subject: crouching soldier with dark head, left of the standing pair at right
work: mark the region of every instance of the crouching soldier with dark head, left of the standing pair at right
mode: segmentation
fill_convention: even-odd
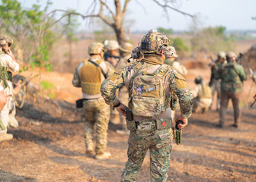
[[[210,86],[203,83],[201,76],[196,77],[195,83],[197,86],[191,90],[192,96],[194,98],[193,111],[198,112],[208,111],[210,104],[212,103],[212,94]]]

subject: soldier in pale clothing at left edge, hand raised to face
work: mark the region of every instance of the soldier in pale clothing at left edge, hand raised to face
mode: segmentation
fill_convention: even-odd
[[[18,127],[18,121],[14,118],[14,95],[18,94],[21,84],[13,86],[11,71],[17,72],[19,64],[11,52],[13,40],[8,36],[0,36],[0,142],[11,140],[11,133],[7,133],[8,127]]]

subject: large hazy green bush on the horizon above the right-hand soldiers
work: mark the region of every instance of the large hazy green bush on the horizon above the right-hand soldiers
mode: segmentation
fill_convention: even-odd
[[[232,51],[234,49],[233,40],[227,37],[225,27],[208,27],[198,31],[191,39],[192,51],[210,51],[217,53],[219,51]]]

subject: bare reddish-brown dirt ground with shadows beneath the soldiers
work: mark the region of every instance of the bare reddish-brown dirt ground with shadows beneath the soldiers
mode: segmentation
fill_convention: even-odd
[[[107,151],[112,158],[85,156],[82,110],[69,102],[28,98],[18,109],[20,127],[8,130],[13,140],[0,143],[0,181],[120,181],[126,162],[127,136],[109,125]],[[173,144],[168,181],[255,181],[256,108],[243,108],[239,129],[219,129],[216,111],[193,114],[182,145]],[[149,181],[149,155],[138,181]]]

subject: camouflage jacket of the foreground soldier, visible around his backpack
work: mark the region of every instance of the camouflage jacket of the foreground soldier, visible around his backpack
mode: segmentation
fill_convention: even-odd
[[[154,73],[160,66],[159,64],[149,64],[142,60],[136,61],[130,66],[123,67],[123,69],[115,71],[114,74],[104,80],[101,85],[101,95],[108,105],[113,105],[118,100],[117,96],[115,96],[116,89],[126,86],[126,88],[131,91],[129,87],[134,73],[142,70],[146,70],[148,73]],[[169,66],[165,64],[165,67]],[[171,67],[169,67],[169,69],[170,72],[164,80],[165,94],[171,97],[170,93],[173,91],[178,96],[181,115],[184,118],[188,118],[191,115],[193,105],[193,97],[191,96],[190,89],[181,74],[178,74],[178,72],[174,71]],[[168,100],[170,101],[170,99]]]

